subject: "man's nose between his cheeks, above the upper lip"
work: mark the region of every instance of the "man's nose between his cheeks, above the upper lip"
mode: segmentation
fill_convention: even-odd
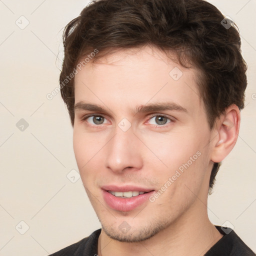
[[[123,131],[116,126],[114,136],[106,145],[106,167],[115,173],[122,173],[124,169],[140,169],[142,167],[140,144],[131,127]]]

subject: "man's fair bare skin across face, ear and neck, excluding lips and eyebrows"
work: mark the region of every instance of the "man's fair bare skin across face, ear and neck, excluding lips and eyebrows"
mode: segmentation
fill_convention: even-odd
[[[169,75],[174,67],[183,73],[178,80]],[[197,77],[195,68],[184,68],[150,46],[117,50],[75,75],[75,104],[105,108],[95,112],[76,107],[73,125],[81,179],[102,225],[98,255],[198,256],[222,237],[207,215],[209,177],[213,162],[234,146],[240,116],[231,105],[210,130]],[[166,101],[187,111],[134,114],[136,106]],[[101,118],[93,122],[87,114]],[[152,115],[167,118],[159,124]],[[118,126],[123,118],[131,124],[126,131]],[[123,212],[103,200],[100,187],[107,184],[158,191],[198,151],[200,156],[154,202]],[[125,233],[118,228],[123,221],[130,226]]]

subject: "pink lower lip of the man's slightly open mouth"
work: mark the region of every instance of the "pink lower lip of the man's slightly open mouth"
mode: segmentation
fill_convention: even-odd
[[[110,208],[118,211],[133,210],[139,205],[141,205],[142,203],[144,203],[146,200],[149,200],[148,198],[150,197],[150,195],[154,193],[154,191],[151,191],[148,193],[139,194],[137,196],[132,196],[130,198],[122,198],[122,197],[114,196],[109,192],[107,192],[106,190],[102,190],[102,191],[103,191],[103,198],[106,204]]]

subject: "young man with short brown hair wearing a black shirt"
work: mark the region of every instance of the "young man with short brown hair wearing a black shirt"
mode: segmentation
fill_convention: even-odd
[[[255,255],[207,215],[244,106],[234,24],[203,0],[99,0],[63,43],[61,96],[102,228],[52,255]]]

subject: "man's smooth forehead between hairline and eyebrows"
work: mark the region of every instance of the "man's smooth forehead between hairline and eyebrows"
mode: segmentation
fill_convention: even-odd
[[[99,52],[100,53],[100,52]],[[74,78],[75,102],[129,105],[173,101],[200,107],[197,70],[185,68],[154,47],[119,49],[86,63]],[[96,102],[95,102],[96,101]]]

